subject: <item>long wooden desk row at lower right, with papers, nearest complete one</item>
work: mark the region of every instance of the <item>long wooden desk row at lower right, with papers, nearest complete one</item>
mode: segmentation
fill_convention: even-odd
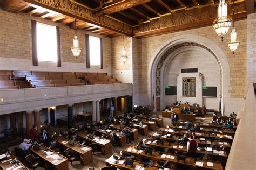
[[[151,160],[155,160],[155,161],[166,161],[166,160],[169,160],[172,164],[175,164],[175,165],[184,165],[184,166],[187,166],[187,167],[191,167],[191,168],[199,168],[200,166],[197,166],[196,165],[196,162],[194,162],[194,158],[190,158],[190,157],[185,157],[185,162],[184,161],[178,161],[177,160],[177,155],[175,154],[169,154],[169,153],[165,153],[167,155],[170,155],[170,156],[173,156],[174,159],[171,159],[171,158],[161,158],[161,155],[159,155],[159,152],[157,151],[152,151],[152,155],[150,154],[145,154],[145,150],[142,151],[142,153],[137,153],[137,152],[132,152],[132,151],[128,151],[128,149],[133,149],[132,146],[126,148],[126,152],[127,153],[130,153],[132,155],[135,155],[136,158],[147,158],[147,159],[151,159]],[[223,169],[222,165],[220,162],[218,161],[212,161],[212,160],[203,160],[203,159],[198,159],[197,161],[200,161],[200,162],[203,162],[203,167],[200,167],[200,168],[203,168],[203,169]],[[212,162],[213,163],[213,166],[207,166],[207,162]]]

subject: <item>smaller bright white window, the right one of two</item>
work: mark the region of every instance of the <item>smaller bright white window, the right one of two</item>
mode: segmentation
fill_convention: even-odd
[[[100,66],[100,38],[89,36],[90,43],[90,63],[91,65]]]

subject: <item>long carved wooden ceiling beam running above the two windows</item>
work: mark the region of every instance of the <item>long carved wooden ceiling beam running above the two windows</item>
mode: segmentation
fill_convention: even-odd
[[[17,1],[21,2],[21,0]],[[74,13],[76,9],[76,18],[82,20],[83,22],[95,24],[105,29],[125,34],[126,36],[132,36],[131,26],[120,23],[117,20],[106,16],[97,15],[93,13],[93,11],[91,11],[90,9],[86,9],[77,4],[75,6],[75,4],[70,2],[69,0],[23,0],[23,2],[25,2],[26,4],[30,4],[34,8],[43,8],[45,11],[55,11],[56,14],[63,15],[66,18],[74,18]]]

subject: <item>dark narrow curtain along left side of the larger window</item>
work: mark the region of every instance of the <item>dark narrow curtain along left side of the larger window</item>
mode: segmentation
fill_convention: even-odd
[[[36,35],[36,21],[35,20],[31,20],[31,30],[32,30],[32,62],[33,62],[33,66],[38,66],[37,35]]]

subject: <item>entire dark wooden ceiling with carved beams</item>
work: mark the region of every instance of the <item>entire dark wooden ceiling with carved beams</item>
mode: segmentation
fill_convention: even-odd
[[[2,1],[2,3],[1,3]],[[254,12],[255,0],[231,0],[235,20]],[[3,10],[52,20],[108,37],[149,37],[212,25],[219,0],[0,0]],[[76,12],[75,12],[76,11]]]

